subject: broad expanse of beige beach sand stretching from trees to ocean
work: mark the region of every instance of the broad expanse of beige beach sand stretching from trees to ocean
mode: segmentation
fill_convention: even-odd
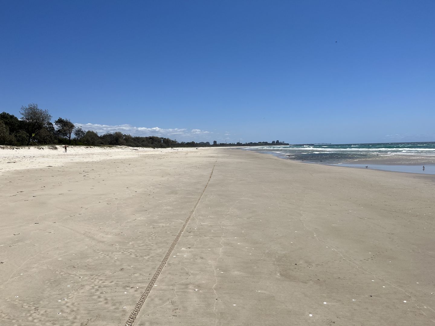
[[[435,176],[229,149],[11,151],[2,326],[435,323]]]

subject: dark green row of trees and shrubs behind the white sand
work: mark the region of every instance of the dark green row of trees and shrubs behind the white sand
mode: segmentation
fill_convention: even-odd
[[[96,131],[84,131],[76,127],[69,119],[58,118],[51,122],[48,110],[42,110],[37,104],[21,106],[21,118],[13,114],[0,113],[0,145],[29,146],[48,144],[75,145],[125,145],[131,147],[199,147],[210,146],[209,142],[177,142],[157,136],[131,136],[119,131],[98,135]],[[56,127],[55,127],[56,126]]]

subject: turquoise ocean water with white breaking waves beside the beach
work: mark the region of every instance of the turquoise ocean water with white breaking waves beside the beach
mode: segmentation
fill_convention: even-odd
[[[243,147],[259,153],[268,153],[288,160],[308,163],[338,164],[360,167],[359,164],[376,165],[380,170],[391,170],[391,166],[415,165],[416,173],[430,173],[422,170],[423,165],[435,163],[435,142],[422,143],[361,143],[333,144],[318,146],[255,146]],[[385,166],[385,169],[382,168]],[[390,167],[386,167],[390,166]],[[400,170],[401,172],[405,168]],[[406,170],[406,169],[405,169]],[[409,169],[408,169],[409,170]]]

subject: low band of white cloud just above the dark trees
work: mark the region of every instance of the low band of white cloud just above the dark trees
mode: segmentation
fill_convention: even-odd
[[[130,134],[132,136],[158,136],[167,138],[177,138],[179,141],[207,141],[206,139],[201,139],[201,136],[206,136],[210,134],[209,131],[201,129],[188,130],[187,128],[174,128],[174,129],[163,129],[159,127],[135,127],[129,124],[121,124],[119,126],[108,126],[104,124],[96,123],[74,123],[76,127],[81,127],[83,130],[93,130],[99,135],[104,135],[105,133],[114,133],[120,131],[124,134]]]

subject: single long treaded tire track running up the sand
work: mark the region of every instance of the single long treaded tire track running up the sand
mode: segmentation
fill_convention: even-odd
[[[191,212],[189,213],[189,216],[187,216],[187,219],[184,221],[183,226],[181,226],[180,232],[178,232],[177,236],[175,237],[174,241],[172,242],[171,246],[167,250],[166,255],[164,256],[163,260],[161,261],[160,265],[157,267],[157,270],[154,272],[153,277],[151,278],[150,283],[148,283],[147,288],[145,289],[144,293],[142,293],[141,298],[136,303],[136,306],[134,306],[133,311],[131,312],[130,316],[128,317],[127,321],[125,322],[125,326],[132,326],[134,323],[134,320],[136,319],[137,315],[139,314],[139,311],[141,310],[142,306],[145,303],[145,300],[147,299],[148,294],[150,294],[151,289],[154,286],[154,283],[156,283],[157,278],[159,277],[163,267],[166,265],[167,260],[171,256],[172,251],[174,250],[175,246],[177,245],[178,240],[180,240],[181,234],[183,233],[184,229],[187,226],[187,223],[189,223],[189,220],[191,219],[193,213],[195,212],[199,202],[201,201],[202,196],[205,193],[205,190],[207,189],[208,183],[210,183],[211,176],[213,175],[214,166],[216,166],[217,160],[214,162],[213,168],[211,169],[210,176],[208,177],[207,184],[205,185],[204,189],[201,192],[201,195],[199,195],[198,200],[195,203],[195,206],[193,206]]]

